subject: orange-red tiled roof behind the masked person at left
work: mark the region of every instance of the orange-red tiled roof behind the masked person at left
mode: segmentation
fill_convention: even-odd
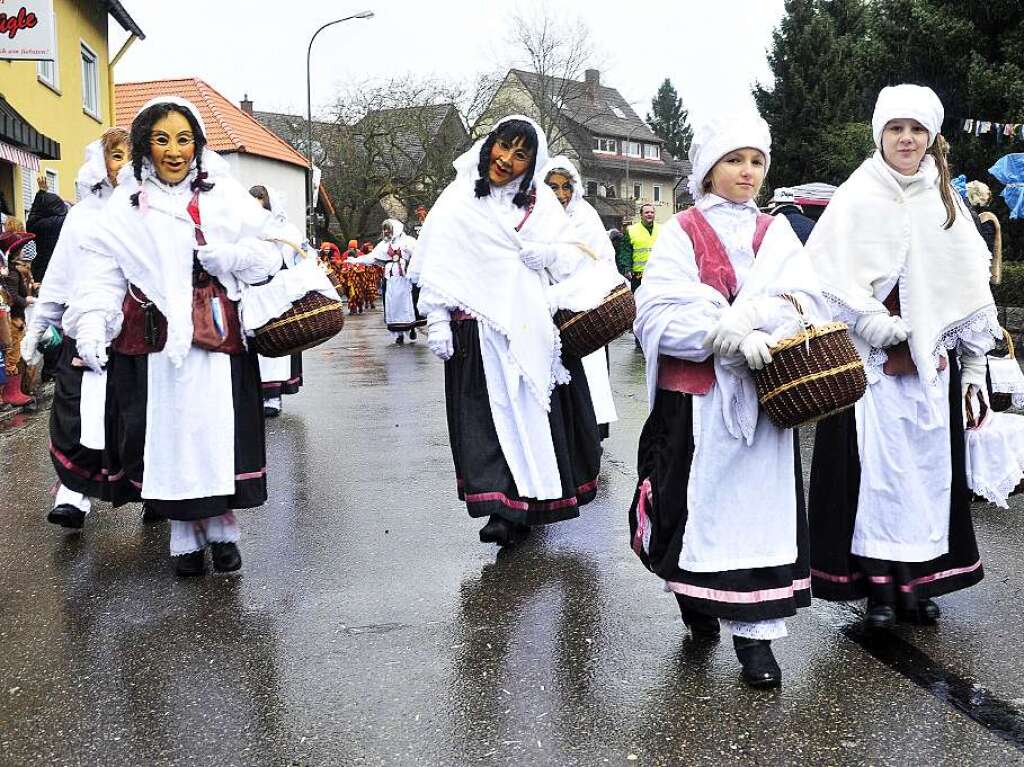
[[[118,83],[115,86],[117,124],[125,127],[139,109],[156,96],[186,98],[206,123],[207,145],[220,153],[242,152],[308,167],[306,159],[199,78]]]

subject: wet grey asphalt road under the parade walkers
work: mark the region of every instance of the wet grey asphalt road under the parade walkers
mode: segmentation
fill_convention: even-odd
[[[176,579],[137,506],[47,524],[46,415],[5,422],[0,765],[1024,763],[1020,500],[976,508],[987,578],[939,627],[873,646],[815,601],[755,692],[628,547],[631,339],[611,365],[597,500],[502,553],[456,498],[441,366],[379,312],[307,352],[268,422],[237,574]]]

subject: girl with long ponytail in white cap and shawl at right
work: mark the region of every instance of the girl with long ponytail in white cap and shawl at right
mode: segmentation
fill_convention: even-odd
[[[985,407],[1001,337],[988,251],[950,186],[938,96],[884,88],[877,151],[807,243],[865,360],[867,392],[817,427],[810,522],[814,596],[867,597],[866,625],[934,623],[933,598],[982,578],[965,473],[965,407]]]

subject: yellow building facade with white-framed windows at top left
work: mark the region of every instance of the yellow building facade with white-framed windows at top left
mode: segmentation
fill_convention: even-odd
[[[114,119],[113,63],[120,54],[111,60],[108,16],[129,34],[120,52],[143,35],[116,1],[53,0],[53,14],[56,60],[0,60],[0,96],[31,128],[59,144],[59,160],[33,154],[50,190],[75,202],[75,176],[85,161],[85,147]],[[0,194],[23,220],[38,188],[35,176],[26,163],[4,163],[0,157]]]

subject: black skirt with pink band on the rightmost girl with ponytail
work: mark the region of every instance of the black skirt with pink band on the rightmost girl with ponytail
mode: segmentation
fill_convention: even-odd
[[[868,559],[850,553],[860,495],[857,421],[852,410],[821,421],[811,463],[811,578],[814,596],[850,601],[866,596],[907,609],[922,599],[966,589],[984,578],[971,520],[959,368],[949,358],[949,550],[927,562]]]

